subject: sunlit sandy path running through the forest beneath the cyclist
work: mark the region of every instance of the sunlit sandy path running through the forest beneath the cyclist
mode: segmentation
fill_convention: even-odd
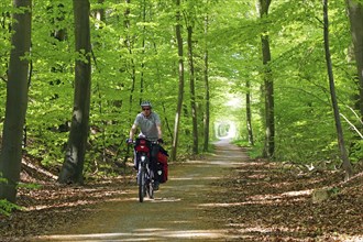
[[[169,180],[161,185],[155,199],[139,202],[138,187],[130,187],[120,199],[97,206],[90,218],[36,241],[233,240],[226,224],[217,222],[218,213],[206,212],[206,208],[208,196],[218,195],[213,189],[222,189],[213,183],[246,160],[241,148],[219,141],[216,153],[205,161],[172,164]]]

